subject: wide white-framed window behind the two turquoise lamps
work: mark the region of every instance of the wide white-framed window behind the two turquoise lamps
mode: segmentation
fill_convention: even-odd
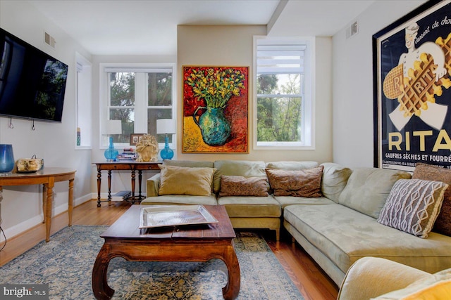
[[[156,134],[156,120],[174,119],[175,122],[174,66],[101,65],[101,68],[105,85],[101,120],[121,120],[122,125],[122,133],[112,135],[115,145],[127,147],[131,133],[148,133],[155,136],[163,148],[165,136]],[[171,148],[175,148],[172,135],[169,142]],[[101,145],[108,146],[106,135],[102,136]]]

